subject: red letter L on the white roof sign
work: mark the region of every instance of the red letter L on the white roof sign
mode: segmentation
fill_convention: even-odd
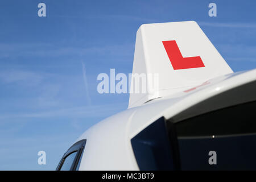
[[[163,41],[164,48],[174,69],[189,69],[204,67],[200,56],[183,57],[175,40]]]

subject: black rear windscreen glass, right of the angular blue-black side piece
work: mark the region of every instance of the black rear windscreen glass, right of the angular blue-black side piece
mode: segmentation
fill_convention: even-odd
[[[180,169],[256,169],[255,109],[254,101],[174,122]]]

